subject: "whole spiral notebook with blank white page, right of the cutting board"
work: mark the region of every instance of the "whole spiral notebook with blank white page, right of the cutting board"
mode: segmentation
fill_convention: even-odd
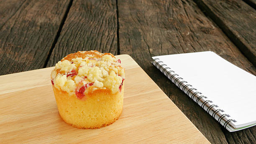
[[[152,58],[156,68],[228,131],[256,125],[256,76],[211,51]]]

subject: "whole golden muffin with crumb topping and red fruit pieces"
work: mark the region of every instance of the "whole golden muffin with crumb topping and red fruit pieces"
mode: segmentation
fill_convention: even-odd
[[[125,70],[111,53],[78,51],[56,63],[51,83],[61,118],[69,125],[97,129],[123,110]]]

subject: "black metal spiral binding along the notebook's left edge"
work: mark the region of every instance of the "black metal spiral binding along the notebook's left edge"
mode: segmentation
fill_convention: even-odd
[[[154,64],[154,62],[155,62],[156,60],[159,60],[159,58],[154,58],[153,61],[151,61],[151,64],[154,65],[154,66],[156,66],[156,68],[158,68],[160,71],[161,71],[161,68],[162,68],[162,67],[167,66],[166,64],[163,63],[163,61],[157,61],[157,62]],[[159,66],[159,63],[163,63],[163,64],[161,64],[161,65]],[[157,66],[159,66],[159,67],[157,67]],[[169,71],[168,71],[168,70],[169,70]],[[201,101],[201,102],[202,102],[201,107],[202,107],[203,109],[204,109],[205,106],[207,106],[208,103],[212,103],[212,101],[210,101],[210,100],[202,101],[202,100],[201,100],[202,98],[207,99],[207,97],[206,97],[206,96],[202,96],[202,95],[201,95],[202,93],[198,92],[196,88],[192,88],[192,85],[188,84],[187,81],[180,81],[179,83],[177,83],[179,80],[183,80],[183,78],[182,78],[182,77],[175,77],[175,76],[179,76],[179,75],[178,75],[177,73],[175,73],[174,71],[172,71],[171,68],[165,67],[161,72],[162,72],[162,73],[166,72],[165,75],[167,76],[167,78],[169,78],[169,75],[171,75],[169,79],[172,81],[172,79],[174,78],[173,83],[174,83],[176,86],[178,86],[178,88],[180,88],[180,89],[181,89],[184,93],[186,93],[188,96],[189,96],[189,93],[194,92],[194,93],[192,93],[192,95],[191,95],[191,99],[194,100],[194,98],[196,98],[196,100],[194,100],[194,101],[195,101],[197,104],[199,104],[199,101]],[[176,83],[177,83],[177,84],[176,84]],[[184,83],[187,83],[187,84],[184,84]],[[183,86],[183,87],[181,88],[181,86]],[[191,87],[191,88],[189,88],[189,87]],[[185,92],[186,88],[188,89],[187,92]],[[201,96],[197,96],[197,95],[201,95]],[[212,109],[213,107],[216,107],[216,108],[217,108],[218,106],[215,105],[215,104],[212,104],[212,105],[210,105],[210,106],[207,106],[206,112],[210,114],[210,111],[211,111],[211,109]],[[216,110],[213,111],[213,109],[212,109],[212,114],[211,114],[211,115],[212,115],[212,117],[213,117],[214,119],[215,119],[215,116],[218,115],[218,112],[224,112],[224,111],[223,111],[222,109],[216,109]],[[219,115],[218,115],[218,116],[219,116]],[[224,119],[224,117],[230,117],[230,116],[229,116],[228,114],[221,114],[221,115],[219,116],[219,118],[217,117],[217,118],[218,118],[217,121],[220,123],[221,120]],[[225,121],[225,120],[224,120],[224,121]],[[236,120],[234,120],[234,119],[228,119],[228,120],[226,120],[226,121],[223,123],[223,126],[226,128],[226,126],[227,126],[231,121],[236,122]]]

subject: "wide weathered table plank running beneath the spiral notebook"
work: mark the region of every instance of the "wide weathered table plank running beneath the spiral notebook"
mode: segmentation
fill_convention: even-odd
[[[227,144],[223,127],[151,66],[151,56],[214,51],[254,75],[255,67],[192,0],[120,0],[118,10],[120,53],[130,54],[211,143]]]

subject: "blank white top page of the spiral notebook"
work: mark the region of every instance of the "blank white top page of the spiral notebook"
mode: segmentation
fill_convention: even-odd
[[[155,56],[202,95],[229,114],[237,125],[256,123],[256,76],[206,51]]]

